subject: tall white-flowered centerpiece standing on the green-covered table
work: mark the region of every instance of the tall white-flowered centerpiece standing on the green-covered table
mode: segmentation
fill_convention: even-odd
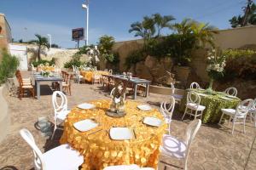
[[[224,76],[224,67],[226,65],[225,56],[220,49],[212,49],[207,57],[207,74],[210,77],[207,92],[212,94],[212,83]]]

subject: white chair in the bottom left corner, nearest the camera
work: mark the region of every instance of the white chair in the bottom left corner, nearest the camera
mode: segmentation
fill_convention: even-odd
[[[35,170],[79,169],[84,162],[84,156],[68,144],[62,144],[43,154],[35,143],[32,133],[26,128],[20,130],[20,135],[33,150]]]

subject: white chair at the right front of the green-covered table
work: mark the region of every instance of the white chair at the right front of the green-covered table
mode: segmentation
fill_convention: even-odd
[[[243,133],[245,132],[245,122],[247,118],[247,113],[249,109],[251,108],[253,99],[245,99],[242,100],[237,106],[236,110],[235,109],[221,109],[222,115],[220,117],[220,120],[218,124],[222,122],[222,119],[224,118],[224,115],[230,116],[229,124],[231,119],[232,121],[232,134],[234,133],[235,129],[235,124],[243,124]],[[242,122],[240,122],[242,121]]]

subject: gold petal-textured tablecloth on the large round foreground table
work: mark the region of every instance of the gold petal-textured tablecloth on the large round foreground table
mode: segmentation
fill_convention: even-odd
[[[125,101],[126,116],[113,118],[105,114],[110,100],[96,100],[90,103],[96,105],[96,109],[74,108],[68,114],[60,140],[61,144],[71,144],[84,155],[83,170],[134,163],[141,167],[157,167],[159,147],[166,131],[166,123],[159,111],[140,111],[136,102]],[[160,127],[149,127],[142,122],[145,116],[158,117],[163,124]],[[100,126],[84,133],[73,127],[73,123],[86,118],[95,119]],[[108,133],[111,127],[131,127],[136,138],[112,140]]]

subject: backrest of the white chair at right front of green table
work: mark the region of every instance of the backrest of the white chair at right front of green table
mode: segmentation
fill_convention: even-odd
[[[242,100],[237,106],[236,106],[236,115],[237,117],[245,117],[247,116],[248,111],[252,107],[253,99],[245,99]]]

